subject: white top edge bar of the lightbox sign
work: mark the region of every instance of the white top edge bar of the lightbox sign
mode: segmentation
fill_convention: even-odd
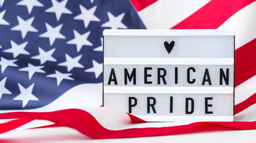
[[[234,36],[233,30],[104,30],[103,36]]]

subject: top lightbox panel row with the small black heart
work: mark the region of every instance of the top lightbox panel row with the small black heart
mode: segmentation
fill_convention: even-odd
[[[175,41],[170,54],[165,41]],[[233,45],[233,36],[104,36],[104,58],[233,58]]]

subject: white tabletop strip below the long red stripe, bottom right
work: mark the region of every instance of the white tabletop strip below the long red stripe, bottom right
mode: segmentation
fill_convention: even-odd
[[[256,130],[205,132],[196,134],[166,135],[126,139],[98,139],[88,140],[88,142],[255,142],[255,133]]]

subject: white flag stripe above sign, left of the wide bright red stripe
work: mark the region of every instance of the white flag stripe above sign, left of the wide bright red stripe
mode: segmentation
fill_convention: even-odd
[[[138,12],[148,29],[168,29],[193,14],[209,0],[159,0]]]

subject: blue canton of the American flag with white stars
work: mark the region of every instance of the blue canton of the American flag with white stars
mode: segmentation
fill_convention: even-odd
[[[128,0],[0,5],[0,109],[45,106],[75,85],[102,82],[103,30],[145,28]]]

